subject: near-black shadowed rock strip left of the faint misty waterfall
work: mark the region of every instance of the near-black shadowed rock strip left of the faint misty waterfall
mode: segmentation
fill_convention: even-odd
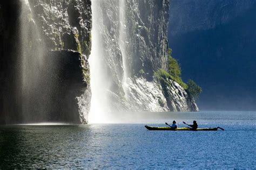
[[[19,119],[15,86],[19,45],[19,2],[0,2],[0,124]]]

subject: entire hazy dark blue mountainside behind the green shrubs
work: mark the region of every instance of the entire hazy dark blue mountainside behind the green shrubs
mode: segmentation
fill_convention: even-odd
[[[255,110],[256,2],[173,0],[169,45],[207,110]],[[241,100],[242,99],[242,100]]]

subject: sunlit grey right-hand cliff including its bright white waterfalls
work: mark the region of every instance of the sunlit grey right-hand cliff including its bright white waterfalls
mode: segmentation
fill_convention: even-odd
[[[98,98],[98,103],[92,100],[90,115],[100,112],[93,112],[98,107],[104,108],[102,112],[198,111],[178,83],[170,80],[170,87],[162,87],[154,78],[154,71],[166,70],[168,65],[169,4],[164,0],[92,2],[89,63],[92,77],[103,81],[91,82],[92,98]],[[93,67],[96,62],[104,69]],[[99,88],[102,92],[96,96],[94,91]]]

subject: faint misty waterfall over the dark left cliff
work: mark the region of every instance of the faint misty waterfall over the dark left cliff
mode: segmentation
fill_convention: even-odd
[[[21,1],[20,69],[22,122],[44,122],[48,119],[50,81],[44,67],[44,44],[28,0]],[[44,83],[43,83],[44,82]],[[45,86],[47,82],[48,86]]]

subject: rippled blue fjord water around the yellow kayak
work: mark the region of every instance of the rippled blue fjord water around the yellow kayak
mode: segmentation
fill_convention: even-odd
[[[144,112],[134,119],[138,122],[0,126],[0,169],[256,168],[255,111]],[[196,119],[200,127],[225,131],[144,128],[173,119],[179,126]]]

